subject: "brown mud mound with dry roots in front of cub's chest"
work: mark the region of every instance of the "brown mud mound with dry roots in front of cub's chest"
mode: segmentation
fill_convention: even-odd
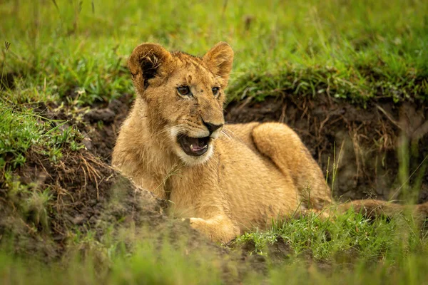
[[[45,261],[61,257],[76,233],[91,230],[99,239],[120,221],[156,226],[165,219],[162,200],[87,150],[66,152],[57,163],[31,152],[16,179],[15,187],[1,183],[0,237]]]

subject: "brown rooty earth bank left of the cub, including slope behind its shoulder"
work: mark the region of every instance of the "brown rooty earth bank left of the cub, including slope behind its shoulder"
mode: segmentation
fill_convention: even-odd
[[[170,224],[164,200],[136,187],[109,164],[116,127],[126,116],[129,98],[78,112],[71,112],[73,106],[39,103],[35,111],[41,119],[54,128],[77,128],[82,134],[77,140],[85,147],[64,146],[56,162],[44,149],[31,147],[24,166],[9,178],[1,175],[0,243],[8,240],[8,247],[18,254],[34,253],[51,261],[86,234],[100,240],[118,228]],[[183,223],[179,227],[193,231]]]

